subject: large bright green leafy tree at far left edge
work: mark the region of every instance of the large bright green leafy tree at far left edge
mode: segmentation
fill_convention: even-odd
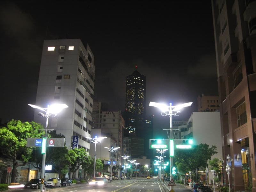
[[[24,122],[20,120],[11,120],[7,126],[0,128],[0,150],[1,153],[12,159],[12,183],[15,183],[17,175],[17,167],[24,166],[31,158],[32,147],[26,147],[27,138],[40,138],[44,135],[44,131],[40,130],[44,127],[36,122]],[[19,164],[17,160],[23,161]]]

